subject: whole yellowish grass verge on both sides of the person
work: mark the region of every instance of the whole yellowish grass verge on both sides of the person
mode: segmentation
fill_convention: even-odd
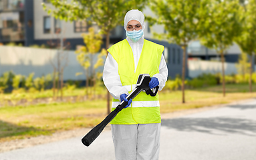
[[[253,86],[254,91],[255,89],[256,86]],[[160,111],[169,113],[256,97],[256,93],[249,93],[248,90],[248,85],[227,85],[227,95],[223,97],[221,85],[190,89],[185,92],[186,103],[181,103],[181,91],[160,91]],[[93,127],[104,117],[106,117],[105,99],[0,107],[0,141]]]

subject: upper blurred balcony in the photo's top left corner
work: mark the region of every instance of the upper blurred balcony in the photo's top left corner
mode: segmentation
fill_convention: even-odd
[[[25,0],[0,0],[1,11],[20,11],[23,10]]]

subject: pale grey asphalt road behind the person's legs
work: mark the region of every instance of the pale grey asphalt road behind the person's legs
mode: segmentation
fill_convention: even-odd
[[[115,159],[109,129],[103,131],[90,147],[82,145],[81,138],[0,153],[0,159]],[[255,160],[256,99],[178,118],[162,119],[159,159]]]

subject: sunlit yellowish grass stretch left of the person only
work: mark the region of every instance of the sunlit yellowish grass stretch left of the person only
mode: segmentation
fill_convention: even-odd
[[[104,100],[0,108],[0,141],[92,127],[105,116]]]

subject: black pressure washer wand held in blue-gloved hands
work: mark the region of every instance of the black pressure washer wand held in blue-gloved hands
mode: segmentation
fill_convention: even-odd
[[[156,96],[158,91],[158,86],[150,89],[148,87],[148,83],[150,82],[151,78],[148,74],[140,74],[138,76],[138,81],[136,83],[136,88],[126,97],[126,99],[134,99],[138,93],[141,91],[146,91],[147,95]],[[100,124],[96,125],[90,132],[88,132],[83,138],[82,143],[87,147],[102,133],[103,129],[116,117],[116,115],[128,105],[128,101],[122,101],[114,111],[112,111]]]

